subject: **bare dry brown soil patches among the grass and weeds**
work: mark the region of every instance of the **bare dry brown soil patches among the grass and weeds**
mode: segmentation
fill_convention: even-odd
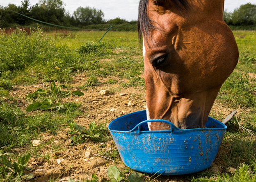
[[[107,60],[106,60],[107,61]],[[98,78],[101,83],[107,81],[108,79],[116,79],[118,83],[127,82],[128,80],[120,80],[116,77],[108,78]],[[80,90],[78,86],[82,85],[87,78],[82,74],[76,75],[74,77],[72,86],[73,90]],[[68,98],[62,99],[65,102],[75,102],[82,104],[82,115],[75,119],[77,124],[89,127],[89,124],[92,121],[96,121],[96,124],[101,124],[107,122],[109,124],[113,119],[120,117],[122,115],[128,114],[130,112],[135,112],[139,110],[144,110],[146,108],[145,102],[145,90],[142,87],[137,88],[122,88],[119,84],[111,85],[98,85],[88,90],[80,90],[85,95],[84,96],[70,96]],[[30,104],[28,100],[25,100],[25,94],[32,93],[38,88],[46,88],[49,85],[44,83],[38,85],[23,86],[19,88],[14,88],[14,91],[10,94],[16,98],[13,100],[7,100],[8,102],[16,102],[21,110],[25,111],[25,108]],[[114,93],[101,95],[101,90],[115,90]],[[126,95],[120,96],[121,93]],[[132,106],[128,106],[128,103],[132,102]],[[114,112],[111,112],[111,109],[116,109]],[[222,112],[222,115],[226,117],[233,109],[229,109],[221,103],[215,102],[212,110],[219,115]],[[38,112],[38,111],[34,111]],[[238,112],[245,112],[238,108]],[[30,114],[33,114],[30,112]],[[81,181],[82,179],[88,180],[91,179],[91,174],[96,173],[100,181],[108,180],[106,169],[108,166],[115,165],[111,160],[107,160],[103,157],[99,157],[98,151],[101,150],[114,150],[116,149],[114,141],[111,140],[106,142],[105,148],[99,148],[100,143],[91,142],[89,139],[84,143],[78,146],[69,146],[71,140],[70,135],[68,134],[69,128],[60,128],[57,131],[57,135],[51,133],[42,133],[39,138],[43,144],[46,144],[49,141],[54,141],[55,144],[60,144],[62,146],[62,151],[53,152],[49,148],[42,148],[40,153],[41,155],[50,154],[50,160],[47,160],[43,157],[31,158],[28,166],[32,167],[27,173],[32,173],[34,178],[30,180],[31,182],[45,182],[50,178],[58,178],[57,181],[66,182],[70,177]],[[33,142],[33,141],[32,141]],[[221,149],[220,149],[221,150]],[[88,156],[89,153],[89,156]],[[87,156],[85,155],[87,154]],[[121,158],[117,161],[121,162]],[[59,162],[59,163],[58,163]],[[222,157],[218,153],[212,166],[206,171],[213,171],[217,173],[222,171]],[[117,163],[117,167],[125,168],[126,166]],[[128,175],[128,174],[126,174]],[[144,175],[145,180],[151,177],[151,175]],[[154,177],[153,177],[154,178]],[[151,178],[151,180],[153,179]],[[149,181],[151,181],[149,180]],[[156,182],[189,182],[187,180],[187,175],[177,175],[177,176],[160,176]]]

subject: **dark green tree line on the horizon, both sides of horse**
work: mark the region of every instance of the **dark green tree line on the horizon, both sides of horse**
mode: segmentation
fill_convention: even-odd
[[[78,7],[71,15],[65,10],[65,4],[62,0],[39,0],[37,4],[30,5],[29,0],[24,0],[18,6],[9,4],[6,8],[0,7],[0,27],[25,26],[34,23],[34,20],[17,14],[21,13],[36,20],[65,27],[105,28],[109,25],[116,25],[116,30],[136,31],[137,29],[137,20],[128,22],[119,17],[105,20],[102,10],[91,7]],[[255,26],[256,5],[247,3],[236,8],[233,12],[225,10],[223,18],[231,26]]]

